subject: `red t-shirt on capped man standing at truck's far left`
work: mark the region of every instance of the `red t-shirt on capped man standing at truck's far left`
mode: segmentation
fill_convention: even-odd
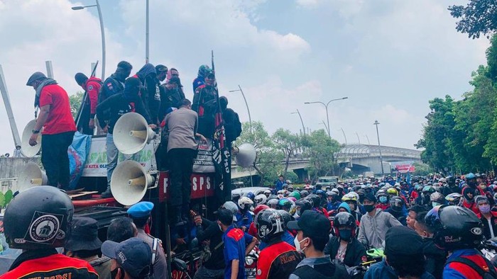
[[[50,105],[47,121],[43,125],[43,135],[54,135],[62,132],[75,132],[76,124],[72,118],[67,92],[58,86],[50,84],[41,90],[40,108]]]

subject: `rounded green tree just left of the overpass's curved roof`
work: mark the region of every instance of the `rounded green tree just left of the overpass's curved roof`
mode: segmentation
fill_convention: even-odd
[[[340,150],[340,144],[335,139],[330,139],[324,130],[315,130],[302,139],[304,156],[309,158],[310,167],[307,168],[310,176],[327,176],[334,173],[337,160],[334,157]]]

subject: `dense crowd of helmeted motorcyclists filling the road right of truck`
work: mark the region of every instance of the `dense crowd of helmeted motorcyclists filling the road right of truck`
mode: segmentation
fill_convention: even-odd
[[[494,190],[497,190],[497,181],[479,173],[360,178],[339,181],[337,185],[307,184],[299,188],[286,181],[258,195],[233,195],[232,203],[224,206],[231,207],[236,215],[236,227],[260,241],[258,261],[261,263],[266,261],[262,251],[273,249],[269,237],[299,251],[300,247],[295,245],[297,231],[292,230],[288,222],[298,222],[310,211],[329,220],[329,240],[324,254],[336,266],[343,264],[360,269],[365,278],[407,275],[410,278],[479,278],[481,271],[492,276],[497,274],[489,259],[479,251],[484,241],[497,233],[497,192]],[[403,243],[406,254],[403,255],[402,249],[395,251],[397,260],[394,261],[386,253],[389,243],[386,238],[388,234],[395,237],[396,229],[392,228],[400,226],[410,230],[406,235],[411,238],[415,234],[413,243],[419,241],[422,245],[420,251],[411,251],[410,243]],[[398,232],[401,233],[405,232]],[[374,255],[380,255],[376,258],[378,263]],[[413,264],[406,261],[405,265],[413,268],[395,268],[406,255]],[[417,255],[420,262],[415,264],[413,255]],[[267,268],[267,264],[265,266]]]

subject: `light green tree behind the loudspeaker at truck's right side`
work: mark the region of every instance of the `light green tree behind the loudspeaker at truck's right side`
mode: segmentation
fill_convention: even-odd
[[[252,122],[252,132],[250,132],[250,123],[242,124],[241,135],[236,139],[236,145],[244,143],[253,144],[256,148],[257,158],[253,168],[261,176],[260,185],[273,184],[278,174],[283,171],[281,161],[285,156],[283,152],[275,149],[275,145],[261,121]]]

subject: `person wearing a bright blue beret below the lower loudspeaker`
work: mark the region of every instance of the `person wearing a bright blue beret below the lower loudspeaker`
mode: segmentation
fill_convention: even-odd
[[[145,227],[150,224],[153,203],[140,202],[129,207],[128,215],[138,229],[138,237],[145,241],[152,249],[153,278],[168,278],[168,267],[166,266],[164,249],[160,239],[152,237],[145,232]]]

